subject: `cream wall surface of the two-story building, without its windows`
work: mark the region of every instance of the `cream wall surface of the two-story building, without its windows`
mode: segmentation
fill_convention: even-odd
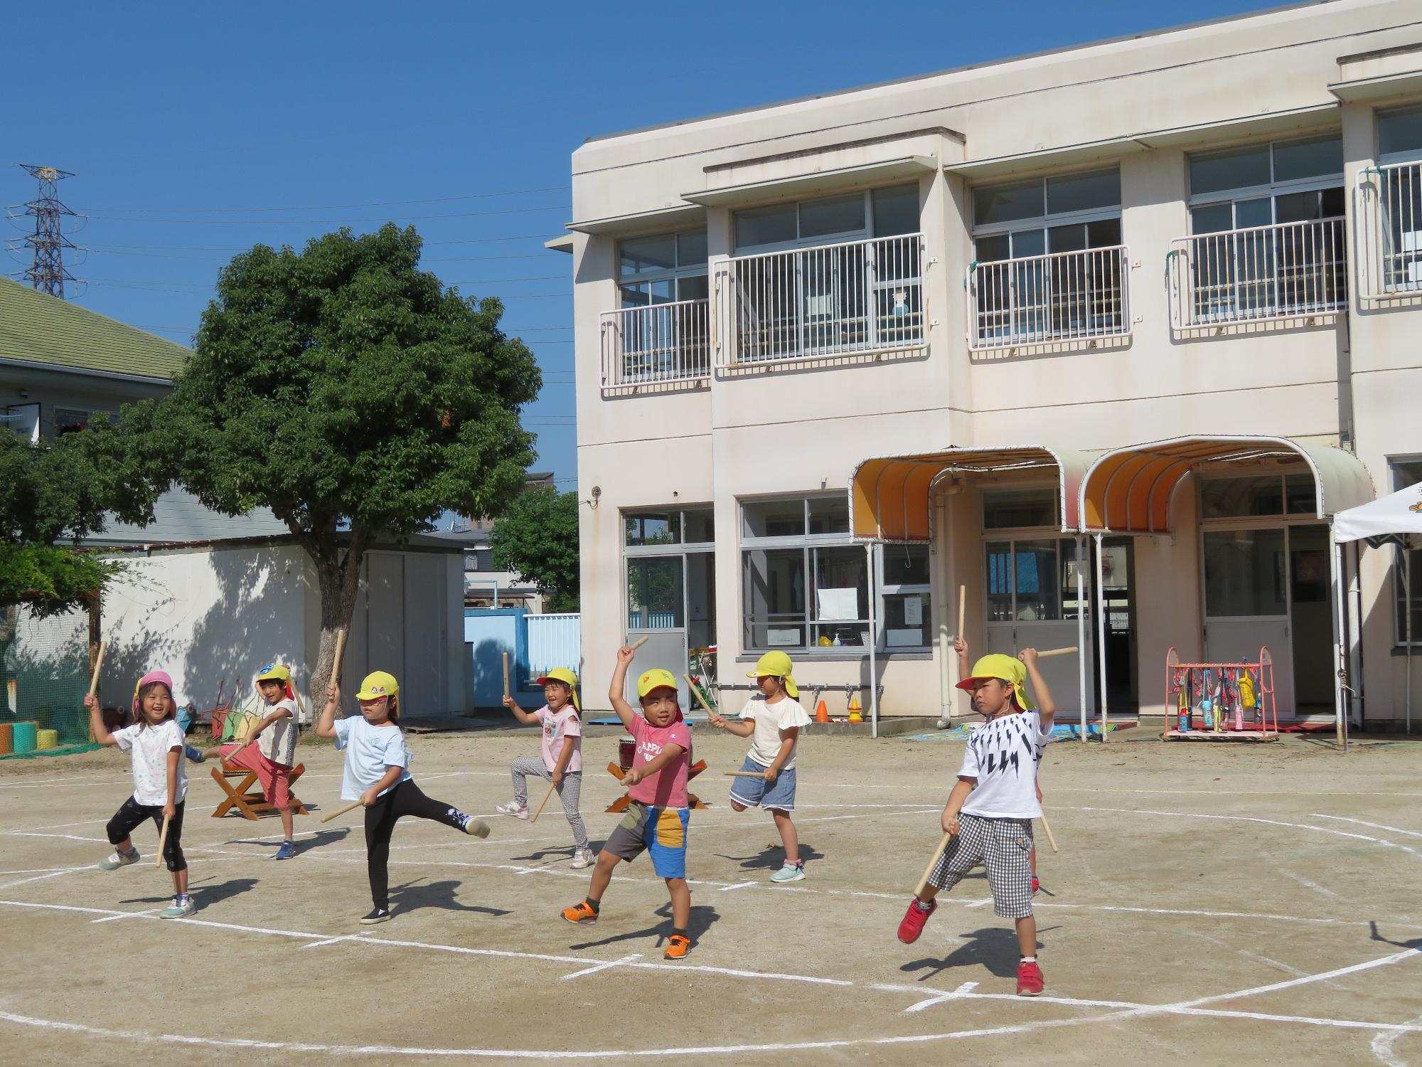
[[[1352,256],[1352,189],[1375,158],[1375,108],[1422,102],[1422,85],[1413,77],[1375,100],[1345,104],[1330,85],[1422,71],[1422,53],[1405,48],[1422,41],[1415,18],[1415,4],[1404,0],[1300,6],[579,148],[572,161],[574,219],[627,216],[587,226],[573,242],[579,491],[584,501],[593,487],[600,494],[582,529],[590,700],[603,691],[626,629],[621,509],[714,502],[721,677],[739,680],[745,671],[735,669],[737,659],[754,656],[739,654],[738,501],[845,489],[855,464],[867,457],[950,444],[1103,450],[1192,434],[1264,434],[1351,448],[1382,492],[1388,457],[1422,452],[1411,411],[1422,356],[1409,340],[1422,309],[1361,309],[1355,299],[1347,312],[1287,326],[1177,331],[1165,265],[1172,242],[1190,232],[1189,152],[1325,131],[1341,131],[1344,141]],[[1364,53],[1385,58],[1347,58]],[[739,196],[739,208],[890,184],[833,172],[877,166],[863,172],[884,174],[906,154],[934,162],[917,179],[926,354],[721,371],[701,388],[603,396],[600,316],[617,306],[617,240],[695,225],[685,213],[675,225],[634,216],[685,212],[687,198],[705,198],[711,206],[701,218],[714,282],[732,252],[727,198]],[[963,279],[973,262],[971,188],[1112,165],[1121,172],[1129,248],[1129,340],[970,350]],[[769,185],[728,192],[748,182]],[[791,182],[793,192],[776,192],[774,182]],[[712,285],[714,322],[722,322],[717,309],[727,299]],[[1172,644],[1187,657],[1203,654],[1194,481],[1177,494],[1175,534],[1135,542],[1142,710],[1163,710],[1162,664]],[[960,585],[968,588],[970,605],[983,602],[980,506],[971,488],[947,504],[947,529],[936,545],[939,615],[953,610],[951,590]],[[1359,576],[1369,720],[1401,717],[1389,555],[1365,552]],[[967,636],[981,647],[975,607]],[[867,680],[859,656],[806,659],[802,674],[812,680]],[[937,711],[943,669],[937,654],[889,657],[880,664],[884,710]],[[954,674],[954,664],[947,669]],[[1413,700],[1422,701],[1422,671],[1416,674]]]

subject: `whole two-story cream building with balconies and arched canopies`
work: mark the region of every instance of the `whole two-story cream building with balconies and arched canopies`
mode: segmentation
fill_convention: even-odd
[[[1071,714],[1163,713],[1172,647],[1267,646],[1281,720],[1331,718],[1340,669],[1355,721],[1401,720],[1396,552],[1338,573],[1330,519],[1422,481],[1418,14],[1300,4],[587,141],[550,246],[589,700],[648,633],[678,673],[785,649],[866,710],[873,676],[883,714],[961,714],[963,589],[974,656],[1084,644],[1048,663]]]

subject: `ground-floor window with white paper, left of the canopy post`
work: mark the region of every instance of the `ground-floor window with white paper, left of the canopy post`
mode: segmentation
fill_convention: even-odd
[[[741,575],[747,652],[867,646],[869,561],[843,494],[742,502]]]

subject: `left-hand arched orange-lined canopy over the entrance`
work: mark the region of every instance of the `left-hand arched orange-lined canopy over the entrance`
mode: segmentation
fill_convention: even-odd
[[[1096,452],[1042,445],[944,448],[865,460],[849,477],[849,528],[856,541],[927,542],[933,536],[930,489],[953,474],[1004,474],[1041,468],[1057,474],[1062,531],[1079,528],[1082,478]]]

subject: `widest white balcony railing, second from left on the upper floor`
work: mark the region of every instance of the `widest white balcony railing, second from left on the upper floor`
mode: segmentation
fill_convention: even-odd
[[[923,236],[906,233],[727,260],[722,366],[921,349]]]

